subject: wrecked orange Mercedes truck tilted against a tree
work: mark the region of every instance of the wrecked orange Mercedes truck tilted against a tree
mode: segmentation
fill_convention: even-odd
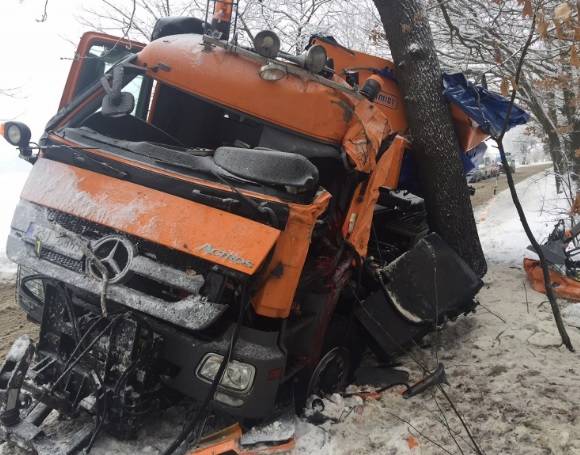
[[[405,183],[393,64],[331,37],[244,46],[232,3],[214,11],[161,19],[149,44],[85,34],[39,142],[2,125],[32,164],[7,255],[40,328],[0,370],[0,439],[76,453],[186,401],[243,428],[473,311],[480,278]],[[489,135],[467,104],[465,161]],[[58,448],[52,411],[87,422]]]

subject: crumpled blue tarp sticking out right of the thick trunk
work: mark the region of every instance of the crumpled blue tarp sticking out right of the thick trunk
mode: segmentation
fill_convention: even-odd
[[[456,104],[479,127],[491,136],[499,136],[507,117],[510,100],[497,93],[476,86],[461,73],[443,75],[443,93]],[[530,116],[517,106],[513,106],[508,129],[524,125]]]

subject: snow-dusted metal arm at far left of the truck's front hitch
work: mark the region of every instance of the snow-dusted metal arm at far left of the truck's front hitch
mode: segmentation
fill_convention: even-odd
[[[26,335],[18,338],[0,369],[0,422],[7,427],[20,423],[22,402],[20,391],[34,355],[32,340]]]

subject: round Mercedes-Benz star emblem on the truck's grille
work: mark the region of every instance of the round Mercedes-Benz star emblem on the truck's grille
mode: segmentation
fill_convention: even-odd
[[[135,246],[129,240],[117,235],[108,235],[98,240],[92,250],[107,268],[109,283],[118,283],[130,278]],[[103,278],[101,270],[91,258],[87,258],[87,271],[98,280]]]

